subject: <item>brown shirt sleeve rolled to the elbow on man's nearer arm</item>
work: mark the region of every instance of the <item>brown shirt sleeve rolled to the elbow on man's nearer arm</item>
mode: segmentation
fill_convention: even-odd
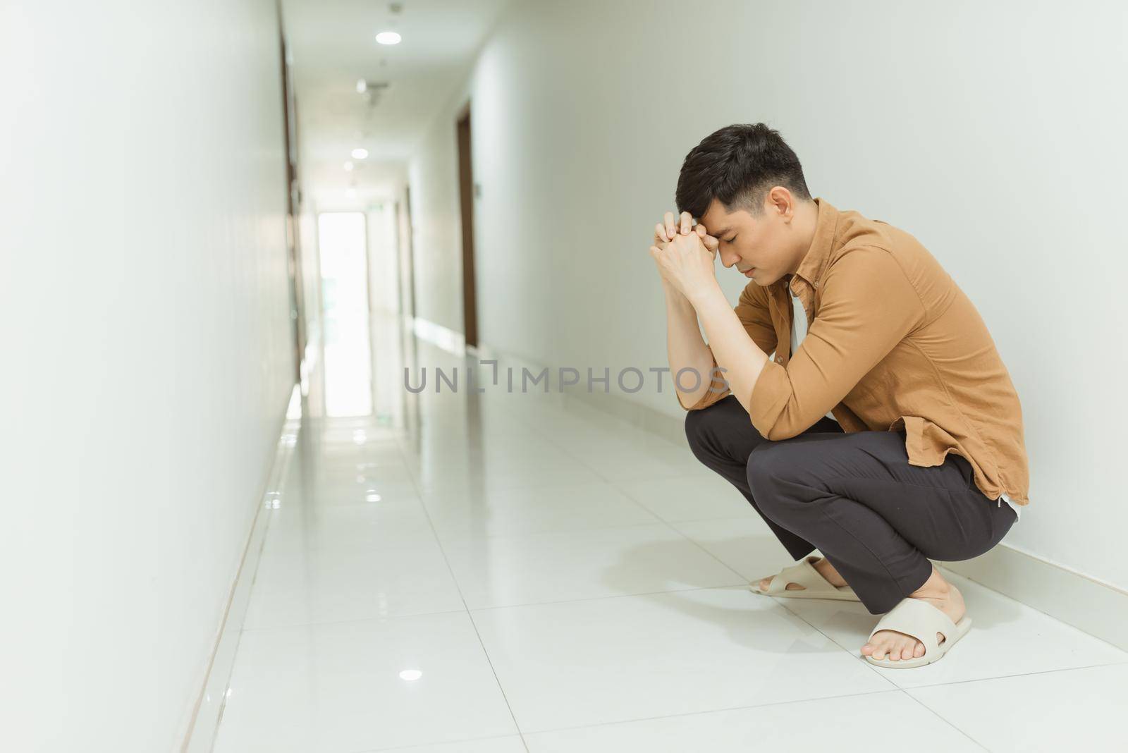
[[[768,361],[752,386],[749,416],[767,440],[810,428],[924,320],[916,289],[884,249],[853,249],[821,284],[819,313],[799,351],[786,366]]]

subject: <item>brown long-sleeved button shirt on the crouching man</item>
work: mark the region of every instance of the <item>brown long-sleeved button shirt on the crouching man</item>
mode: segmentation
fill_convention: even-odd
[[[904,428],[909,464],[954,452],[989,499],[1029,504],[1022,407],[975,305],[909,233],[814,201],[814,240],[796,273],[749,283],[735,307],[760,349],[776,352],[752,387],[752,425],[785,440],[829,410],[846,432]],[[809,322],[796,353],[788,285]],[[689,410],[724,387],[714,381]]]

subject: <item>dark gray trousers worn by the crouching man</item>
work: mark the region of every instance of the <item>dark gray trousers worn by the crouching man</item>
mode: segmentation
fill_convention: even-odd
[[[686,415],[705,466],[735,486],[796,561],[818,548],[871,614],[924,585],[928,558],[971,559],[1002,541],[1010,505],[979,490],[971,464],[949,453],[910,466],[905,432],[846,434],[830,418],[778,442],[760,436],[732,395]]]

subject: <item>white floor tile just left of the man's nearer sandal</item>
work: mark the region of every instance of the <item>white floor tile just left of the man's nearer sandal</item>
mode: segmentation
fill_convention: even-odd
[[[522,732],[892,688],[774,601],[743,588],[472,615]]]

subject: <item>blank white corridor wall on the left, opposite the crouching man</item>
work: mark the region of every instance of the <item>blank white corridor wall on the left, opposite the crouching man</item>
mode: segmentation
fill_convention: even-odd
[[[0,748],[171,751],[292,383],[273,0],[0,9]]]

